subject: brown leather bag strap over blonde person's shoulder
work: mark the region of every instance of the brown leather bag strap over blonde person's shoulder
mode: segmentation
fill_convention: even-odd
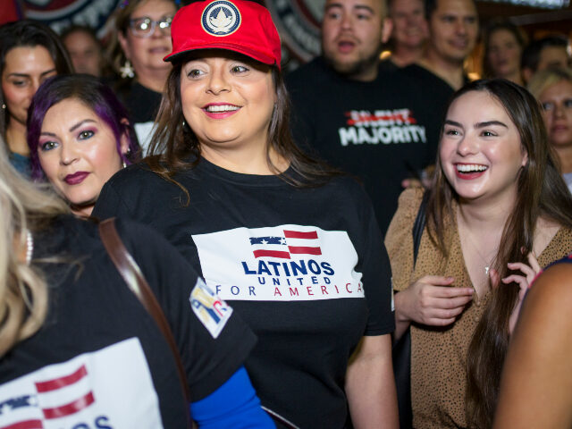
[[[137,299],[139,299],[149,315],[153,316],[157,326],[163,333],[164,339],[167,341],[167,344],[169,344],[172,356],[175,358],[177,365],[182,391],[185,394],[185,399],[190,403],[189,383],[187,383],[187,376],[182,366],[181,355],[172,336],[169,323],[155,298],[155,294],[151,288],[149,288],[145,277],[143,277],[139,265],[137,265],[137,262],[135,262],[127,251],[127,248],[123,245],[122,239],[115,229],[115,218],[107,219],[99,223],[99,236],[104,243],[107,254],[114,262],[117,271],[122,275],[129,289],[135,294]]]

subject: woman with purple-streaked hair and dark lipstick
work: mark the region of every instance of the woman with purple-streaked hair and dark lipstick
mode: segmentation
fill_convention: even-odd
[[[46,80],[29,107],[32,178],[46,178],[75,214],[90,215],[105,181],[139,156],[127,117],[113,90],[93,76]]]

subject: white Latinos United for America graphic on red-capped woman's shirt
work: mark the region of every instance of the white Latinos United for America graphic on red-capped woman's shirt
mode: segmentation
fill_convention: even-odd
[[[357,252],[346,231],[307,225],[235,228],[193,235],[206,284],[222,299],[363,298]]]

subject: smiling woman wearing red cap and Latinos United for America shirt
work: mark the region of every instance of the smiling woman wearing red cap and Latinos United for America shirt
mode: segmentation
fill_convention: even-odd
[[[154,226],[231,301],[258,336],[246,366],[265,408],[304,428],[397,426],[381,233],[362,187],[292,141],[270,13],[189,4],[172,45],[154,155],[93,214]]]

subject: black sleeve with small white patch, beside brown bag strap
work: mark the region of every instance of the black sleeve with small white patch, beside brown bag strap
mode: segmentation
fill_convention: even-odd
[[[169,321],[191,400],[201,400],[243,365],[256,337],[230,306],[205,289],[203,280],[163,237],[138,223],[116,224]]]

